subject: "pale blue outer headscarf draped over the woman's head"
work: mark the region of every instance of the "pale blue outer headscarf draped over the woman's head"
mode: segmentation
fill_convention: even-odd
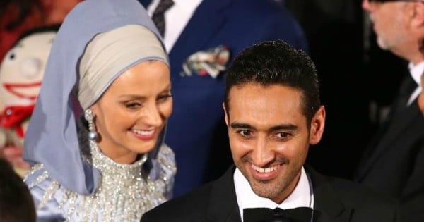
[[[91,194],[98,187],[99,172],[81,159],[76,127],[76,118],[79,118],[76,115],[81,106],[75,102],[77,95],[73,92],[74,86],[78,85],[79,63],[88,43],[96,35],[126,25],[146,27],[158,37],[163,47],[158,30],[136,0],[86,0],[73,8],[54,39],[40,94],[25,135],[25,161],[44,164],[52,178],[82,195]],[[146,39],[141,36],[139,41]],[[88,99],[90,101],[86,101],[84,106],[93,104],[119,74],[135,63],[161,60],[156,55],[149,57],[146,54],[131,59],[129,63],[120,64],[119,70],[107,77],[106,85],[100,87],[102,90],[93,93],[94,97]],[[168,63],[167,57],[165,62]],[[153,171],[153,158],[163,142],[164,133],[165,130],[161,132],[153,152],[149,153],[148,164],[153,166]]]

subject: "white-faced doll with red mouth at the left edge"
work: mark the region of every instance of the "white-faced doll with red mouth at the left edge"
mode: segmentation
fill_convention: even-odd
[[[22,160],[25,130],[59,25],[25,32],[0,65],[0,156],[21,175],[29,168]]]

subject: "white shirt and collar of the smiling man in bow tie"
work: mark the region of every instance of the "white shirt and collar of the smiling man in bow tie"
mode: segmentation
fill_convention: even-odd
[[[310,185],[310,180],[304,168],[302,168],[300,179],[295,190],[293,190],[281,204],[276,204],[271,199],[256,195],[250,187],[249,182],[238,168],[236,168],[234,172],[234,185],[241,216],[245,208],[266,207],[276,209],[279,207],[281,209],[288,209],[300,206],[313,208],[314,206],[312,185]]]

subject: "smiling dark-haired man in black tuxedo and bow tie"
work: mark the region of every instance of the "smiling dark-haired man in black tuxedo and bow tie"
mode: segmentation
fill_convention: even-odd
[[[304,166],[325,123],[304,52],[275,41],[242,51],[228,69],[223,108],[235,166],[141,221],[399,220],[388,197]]]

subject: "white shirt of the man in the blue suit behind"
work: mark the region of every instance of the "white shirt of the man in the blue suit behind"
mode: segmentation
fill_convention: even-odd
[[[146,8],[149,16],[152,17],[159,1],[160,0],[153,0]],[[179,35],[181,35],[182,30],[184,30],[184,27],[189,23],[190,18],[192,18],[194,11],[196,11],[200,3],[201,0],[174,0],[174,5],[165,11],[164,16],[166,25],[163,41],[165,42],[167,53],[174,47]]]

